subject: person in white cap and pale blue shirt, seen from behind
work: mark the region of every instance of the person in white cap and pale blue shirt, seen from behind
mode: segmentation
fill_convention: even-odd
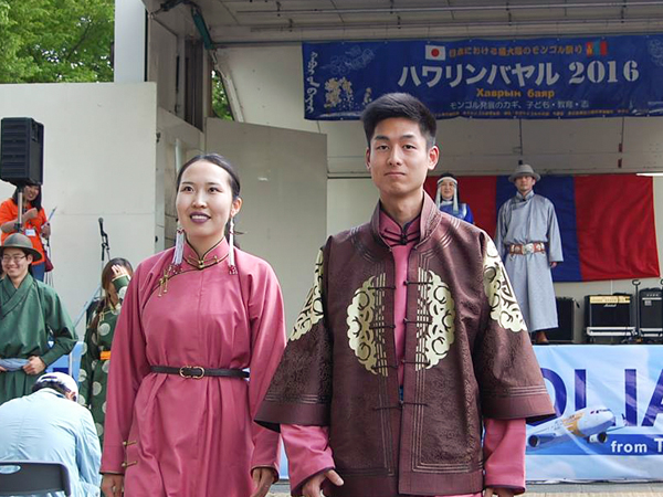
[[[0,405],[0,461],[63,463],[73,497],[98,496],[99,440],[92,414],[76,402],[76,381],[46,373],[32,392]]]

